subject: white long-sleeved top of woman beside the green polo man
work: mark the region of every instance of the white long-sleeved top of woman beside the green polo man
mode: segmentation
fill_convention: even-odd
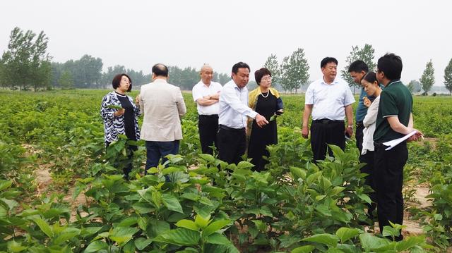
[[[376,97],[372,104],[370,104],[369,109],[367,109],[367,114],[364,117],[362,124],[364,129],[362,130],[362,152],[361,154],[366,154],[367,150],[374,151],[374,132],[376,126],[376,116],[379,113],[380,96]]]

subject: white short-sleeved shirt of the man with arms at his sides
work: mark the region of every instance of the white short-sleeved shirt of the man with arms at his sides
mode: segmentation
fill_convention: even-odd
[[[312,120],[329,119],[343,121],[345,118],[345,106],[355,103],[347,82],[336,78],[331,84],[327,84],[323,78],[309,85],[306,91],[304,104],[312,104]]]

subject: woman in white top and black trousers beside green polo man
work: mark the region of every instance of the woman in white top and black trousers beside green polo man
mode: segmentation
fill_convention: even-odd
[[[374,101],[370,101],[367,97],[364,97],[364,106],[367,106],[367,115],[362,122],[364,125],[363,140],[362,140],[362,152],[359,156],[359,161],[367,163],[366,166],[361,168],[362,173],[367,173],[365,183],[375,190],[374,181],[372,175],[374,172],[374,132],[376,125],[376,115],[379,111],[381,87],[376,80],[376,74],[369,72],[364,75],[361,80],[361,84],[364,87],[364,91],[368,96],[375,97]],[[368,205],[367,216],[372,220],[374,218],[372,212],[376,208],[376,193],[371,192],[369,197],[372,200],[372,204]],[[373,223],[373,221],[371,222]]]

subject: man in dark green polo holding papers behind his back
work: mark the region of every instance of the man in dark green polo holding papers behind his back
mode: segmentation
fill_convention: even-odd
[[[374,132],[375,178],[380,231],[392,223],[403,223],[403,166],[408,159],[407,143],[401,142],[392,149],[385,150],[383,142],[398,139],[417,131],[410,140],[417,140],[422,132],[413,128],[412,96],[402,82],[402,59],[395,54],[385,54],[379,58],[376,79],[384,85],[380,95],[379,112]],[[403,237],[396,237],[402,240]]]

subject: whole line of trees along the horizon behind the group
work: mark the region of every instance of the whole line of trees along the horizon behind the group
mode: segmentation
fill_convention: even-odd
[[[11,31],[8,49],[0,58],[0,87],[11,90],[44,90],[44,89],[73,89],[95,88],[104,89],[111,85],[114,75],[126,73],[133,80],[133,85],[143,85],[151,81],[151,75],[143,71],[136,71],[125,66],[111,66],[102,71],[104,64],[101,58],[85,54],[78,60],[65,63],[52,62],[52,56],[47,53],[49,38],[40,32],[36,35],[31,30],[23,31],[15,27]],[[353,46],[349,56],[345,59],[345,67],[340,70],[341,77],[350,87],[357,88],[348,73],[350,63],[362,60],[369,66],[369,70],[376,68],[374,48],[364,44],[359,48]],[[309,64],[305,58],[304,49],[299,48],[285,56],[281,63],[275,54],[270,54],[263,67],[272,73],[273,85],[285,92],[297,93],[303,85],[309,85]],[[191,88],[200,80],[199,70],[196,68],[169,66],[169,82],[179,85],[182,90]],[[224,85],[230,80],[230,74],[214,73],[213,80]],[[419,80],[411,80],[408,89],[411,92],[424,91],[427,94],[434,85],[434,68],[432,60],[427,62]],[[444,85],[452,94],[452,59],[444,70]],[[250,83],[254,86],[254,83]]]

